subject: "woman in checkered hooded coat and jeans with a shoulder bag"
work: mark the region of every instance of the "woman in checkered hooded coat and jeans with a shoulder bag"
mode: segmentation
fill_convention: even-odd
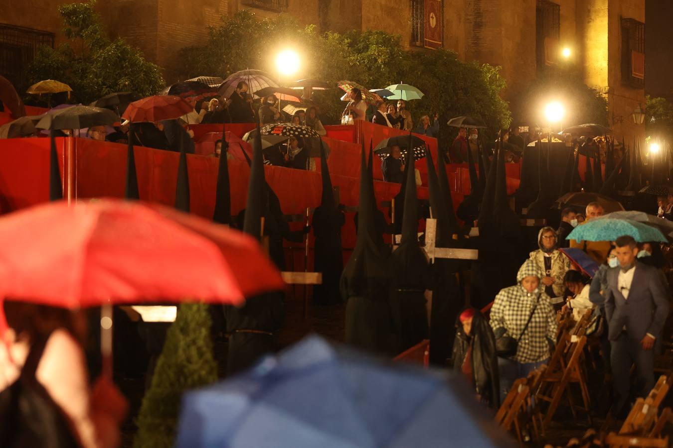
[[[517,378],[546,363],[556,338],[556,316],[540,283],[542,277],[542,269],[532,259],[526,260],[516,276],[518,285],[501,289],[491,308],[489,323],[496,339],[503,335],[519,339],[516,355],[498,357],[501,401]]]

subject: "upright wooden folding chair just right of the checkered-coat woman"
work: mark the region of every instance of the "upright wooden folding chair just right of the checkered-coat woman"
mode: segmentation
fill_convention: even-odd
[[[573,416],[577,418],[575,409],[587,413],[591,423],[590,397],[586,385],[585,375],[581,369],[582,351],[586,345],[586,336],[577,337],[565,332],[557,344],[546,371],[542,375],[540,388],[536,399],[549,402],[549,406],[542,420],[543,427],[551,421],[564,394],[568,398]],[[581,392],[584,407],[576,406],[573,402],[569,384],[577,384]]]

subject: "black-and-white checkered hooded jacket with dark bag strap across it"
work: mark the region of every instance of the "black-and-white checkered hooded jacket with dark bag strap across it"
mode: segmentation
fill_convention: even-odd
[[[491,328],[496,337],[507,335],[519,339],[516,355],[511,357],[518,363],[534,363],[549,357],[547,339],[556,339],[556,315],[549,297],[544,294],[542,283],[534,292],[528,292],[521,284],[526,277],[544,276],[534,261],[528,259],[516,276],[517,285],[506,287],[495,296],[491,308]],[[535,305],[537,306],[535,307]],[[522,334],[528,317],[532,314],[526,332]]]

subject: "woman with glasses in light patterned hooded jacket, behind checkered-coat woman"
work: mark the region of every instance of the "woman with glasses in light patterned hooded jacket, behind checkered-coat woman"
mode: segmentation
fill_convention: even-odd
[[[538,233],[538,249],[530,253],[530,259],[544,272],[540,279],[547,296],[563,297],[565,286],[563,277],[570,269],[570,260],[557,248],[556,231],[551,227],[543,227]]]

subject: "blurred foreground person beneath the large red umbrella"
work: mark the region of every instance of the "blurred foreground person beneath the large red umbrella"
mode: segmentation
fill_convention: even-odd
[[[12,388],[20,384],[21,375],[34,376],[42,388],[33,389],[42,410],[40,415],[28,416],[21,408],[7,409],[14,414],[3,416],[6,426],[0,431],[0,445],[15,446],[16,438],[28,436],[20,424],[22,418],[48,416],[53,418],[52,424],[41,421],[40,425],[50,431],[31,434],[38,446],[55,442],[64,447],[118,446],[118,428],[126,416],[127,402],[106,377],[100,377],[90,390],[82,348],[85,318],[65,308],[9,301],[4,304],[4,314],[9,329],[3,336],[9,342],[0,345],[0,396],[17,394],[18,389]],[[24,392],[23,396],[28,395]]]

